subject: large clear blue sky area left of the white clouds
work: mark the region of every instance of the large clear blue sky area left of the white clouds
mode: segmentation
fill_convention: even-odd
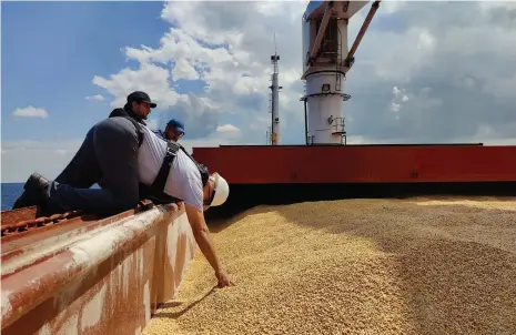
[[[123,45],[158,44],[170,24],[161,2],[3,2],[2,140],[77,138],[111,111],[92,83],[127,61]],[[109,97],[108,97],[109,98]],[[17,108],[44,108],[49,118],[16,120]]]

